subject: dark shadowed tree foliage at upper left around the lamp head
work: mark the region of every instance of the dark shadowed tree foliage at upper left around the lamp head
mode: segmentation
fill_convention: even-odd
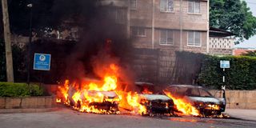
[[[30,3],[33,4],[32,7],[27,6]],[[82,23],[81,20],[95,15],[96,3],[96,0],[10,0],[10,30],[15,34],[28,35],[30,18],[32,29],[37,34],[60,29],[63,22],[70,19],[72,22]]]

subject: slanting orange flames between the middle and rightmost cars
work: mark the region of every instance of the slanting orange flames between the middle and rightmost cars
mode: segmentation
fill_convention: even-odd
[[[194,116],[198,116],[199,115],[199,111],[198,109],[196,109],[194,106],[192,106],[190,104],[190,102],[186,102],[186,100],[182,99],[182,98],[175,98],[170,92],[165,91],[165,94],[169,97],[172,98],[174,101],[174,104],[176,106],[176,109],[180,112],[182,112],[182,114],[185,115],[194,115]]]

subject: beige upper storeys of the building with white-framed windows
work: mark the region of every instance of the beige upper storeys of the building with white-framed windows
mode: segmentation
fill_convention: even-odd
[[[135,47],[207,53],[206,0],[130,0]]]

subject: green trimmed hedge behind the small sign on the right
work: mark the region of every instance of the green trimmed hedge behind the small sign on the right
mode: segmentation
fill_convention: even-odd
[[[230,69],[223,71],[220,61],[230,61]],[[226,82],[222,82],[222,76],[226,76]],[[198,82],[209,88],[220,89],[226,85],[230,90],[255,90],[256,89],[256,57],[248,56],[208,56],[202,62],[201,73]]]

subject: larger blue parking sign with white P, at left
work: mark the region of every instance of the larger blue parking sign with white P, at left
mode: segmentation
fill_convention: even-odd
[[[34,54],[34,70],[50,70],[50,54]]]

